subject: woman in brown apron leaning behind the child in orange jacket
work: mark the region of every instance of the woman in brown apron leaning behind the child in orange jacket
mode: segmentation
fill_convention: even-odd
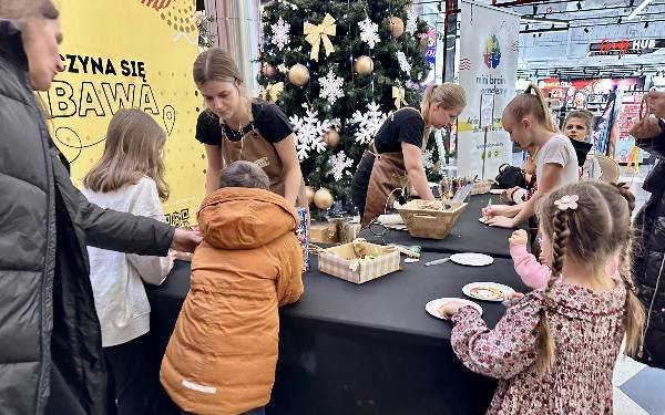
[[[198,55],[194,82],[207,106],[196,123],[196,139],[205,144],[208,162],[206,194],[217,189],[221,169],[247,160],[265,170],[272,191],[294,206],[307,208],[296,137],[282,110],[248,98],[236,63],[218,48]]]

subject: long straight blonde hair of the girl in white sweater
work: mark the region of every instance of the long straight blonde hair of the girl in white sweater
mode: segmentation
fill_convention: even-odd
[[[166,134],[141,110],[120,110],[109,124],[104,154],[83,178],[85,187],[108,193],[136,184],[141,177],[155,180],[162,200],[168,198],[162,149]]]

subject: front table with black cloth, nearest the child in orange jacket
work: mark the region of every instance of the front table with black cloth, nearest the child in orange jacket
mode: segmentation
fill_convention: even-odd
[[[430,317],[424,304],[463,297],[473,281],[505,283],[524,291],[512,262],[488,267],[447,262],[426,252],[417,263],[356,286],[313,270],[303,274],[305,293],[280,310],[277,377],[268,414],[480,414],[495,381],[477,375],[450,346],[452,325]],[[163,353],[190,286],[190,267],[178,262],[161,287],[147,290],[151,336]],[[481,302],[490,326],[503,315],[500,303]],[[151,370],[158,382],[158,362]],[[155,391],[158,387],[155,386]],[[163,395],[163,392],[161,392]],[[155,392],[157,394],[157,392]],[[170,414],[163,396],[160,414]]]

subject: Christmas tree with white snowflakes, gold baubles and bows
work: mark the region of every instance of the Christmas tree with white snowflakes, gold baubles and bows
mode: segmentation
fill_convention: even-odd
[[[420,101],[428,25],[408,0],[276,0],[263,27],[258,82],[295,127],[305,181],[348,201],[382,122]]]

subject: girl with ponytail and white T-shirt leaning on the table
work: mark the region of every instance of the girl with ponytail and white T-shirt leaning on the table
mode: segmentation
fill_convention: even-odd
[[[514,228],[534,215],[538,200],[548,191],[577,181],[577,156],[570,139],[554,124],[542,92],[533,84],[508,104],[502,124],[510,139],[535,162],[535,190],[524,204],[495,205],[483,209],[483,216],[490,226]]]

